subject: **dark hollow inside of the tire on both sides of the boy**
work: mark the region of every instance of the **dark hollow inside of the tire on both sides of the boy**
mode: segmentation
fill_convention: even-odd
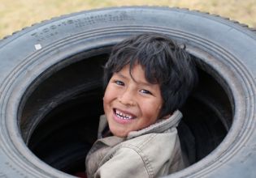
[[[74,176],[85,172],[85,156],[97,139],[102,66],[108,53],[80,53],[65,59],[72,62],[63,62],[58,70],[53,66],[31,84],[20,107],[20,133],[28,148],[51,167]],[[181,109],[184,117],[178,127],[190,164],[215,150],[232,125],[227,88],[207,70],[197,70],[199,84]]]

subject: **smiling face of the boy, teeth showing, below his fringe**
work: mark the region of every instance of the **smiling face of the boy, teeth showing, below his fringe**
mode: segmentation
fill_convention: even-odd
[[[111,77],[103,98],[111,133],[118,137],[154,124],[163,104],[159,85],[146,81],[141,65],[132,68],[132,77],[124,66]]]

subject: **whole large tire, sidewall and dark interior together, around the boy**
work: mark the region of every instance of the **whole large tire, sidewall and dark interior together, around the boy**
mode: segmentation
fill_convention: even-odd
[[[0,177],[83,169],[102,113],[102,65],[113,44],[141,32],[186,44],[200,75],[179,127],[192,165],[168,177],[256,177],[255,33],[165,7],[82,11],[0,41]]]

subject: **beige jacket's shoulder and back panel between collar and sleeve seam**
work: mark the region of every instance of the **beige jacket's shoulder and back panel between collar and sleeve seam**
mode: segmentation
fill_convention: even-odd
[[[123,142],[118,152],[131,149],[137,153],[145,163],[146,169],[150,170],[154,176],[167,175],[175,159],[175,153],[180,149],[180,144],[176,145],[179,140],[177,137],[176,130],[162,134],[141,135]]]

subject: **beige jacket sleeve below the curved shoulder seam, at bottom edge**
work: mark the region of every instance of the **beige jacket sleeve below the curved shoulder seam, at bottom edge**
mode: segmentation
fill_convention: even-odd
[[[111,159],[98,168],[95,178],[154,177],[150,164],[139,150],[120,148]]]

